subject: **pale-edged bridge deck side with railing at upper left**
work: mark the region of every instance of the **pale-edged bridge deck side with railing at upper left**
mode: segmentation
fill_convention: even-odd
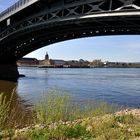
[[[0,22],[19,12],[20,10],[28,7],[29,5],[36,3],[37,1],[39,0],[19,0],[14,5],[0,13]]]

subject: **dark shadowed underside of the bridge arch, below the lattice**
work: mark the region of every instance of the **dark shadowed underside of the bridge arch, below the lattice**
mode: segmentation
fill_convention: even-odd
[[[12,33],[0,44],[0,63],[14,63],[24,55],[46,45],[81,37],[139,35],[140,16],[77,18],[41,23]]]

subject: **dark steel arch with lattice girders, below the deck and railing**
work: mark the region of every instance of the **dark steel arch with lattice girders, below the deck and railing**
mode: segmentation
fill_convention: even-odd
[[[139,0],[64,0],[63,4],[2,30],[0,57],[16,61],[40,47],[72,38],[140,34]]]

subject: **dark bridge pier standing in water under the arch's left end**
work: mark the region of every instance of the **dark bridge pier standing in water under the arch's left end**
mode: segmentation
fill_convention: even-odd
[[[19,76],[16,64],[0,64],[0,80],[17,80]]]

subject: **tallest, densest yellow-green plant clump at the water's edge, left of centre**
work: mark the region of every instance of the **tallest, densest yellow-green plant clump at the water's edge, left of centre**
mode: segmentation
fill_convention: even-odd
[[[68,96],[44,97],[35,106],[35,121],[39,123],[51,123],[66,120],[68,117],[68,106],[70,98]]]

